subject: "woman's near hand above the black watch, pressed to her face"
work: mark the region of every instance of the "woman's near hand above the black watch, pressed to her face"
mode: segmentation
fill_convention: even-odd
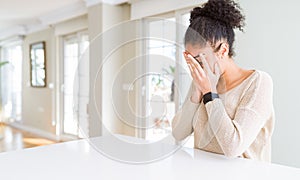
[[[216,61],[216,63],[214,64],[215,72],[212,72],[206,58],[202,54],[200,54],[200,58],[202,60],[204,68],[200,66],[200,64],[195,58],[193,58],[193,56],[191,56],[190,54],[188,55],[187,63],[192,73],[192,77],[194,81],[196,81],[196,83],[201,87],[201,91],[203,94],[206,94],[208,92],[217,93],[217,84],[221,74],[219,64]]]

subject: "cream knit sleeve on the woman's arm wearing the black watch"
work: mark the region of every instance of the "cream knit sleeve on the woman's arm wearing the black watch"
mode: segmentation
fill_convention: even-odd
[[[224,155],[237,157],[249,148],[272,114],[272,98],[272,79],[260,74],[242,97],[233,119],[226,113],[221,99],[205,105],[210,128]]]

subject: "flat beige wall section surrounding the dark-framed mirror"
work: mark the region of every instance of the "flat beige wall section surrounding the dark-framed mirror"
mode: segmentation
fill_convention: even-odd
[[[46,42],[46,73],[47,87],[33,88],[30,86],[29,47],[31,43]],[[22,123],[31,128],[55,134],[52,124],[54,117],[54,89],[49,84],[55,81],[55,38],[53,28],[27,35],[23,44],[23,84],[22,84]]]

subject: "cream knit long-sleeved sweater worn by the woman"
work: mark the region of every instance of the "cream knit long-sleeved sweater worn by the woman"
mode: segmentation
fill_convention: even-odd
[[[241,84],[206,105],[190,101],[191,86],[172,128],[181,141],[194,132],[195,148],[270,162],[274,130],[273,83],[262,71],[254,71]]]

